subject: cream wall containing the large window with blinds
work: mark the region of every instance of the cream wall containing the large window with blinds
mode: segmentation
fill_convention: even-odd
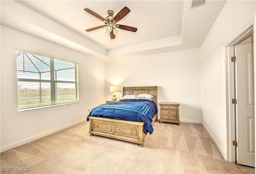
[[[16,47],[79,64],[78,104],[18,112]],[[104,102],[104,62],[1,25],[1,151],[84,121]]]

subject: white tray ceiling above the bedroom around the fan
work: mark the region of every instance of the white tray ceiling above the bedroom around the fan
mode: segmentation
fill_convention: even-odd
[[[1,1],[1,25],[74,49],[104,61],[200,47],[226,0],[205,0],[191,9],[192,0],[57,0]],[[124,6],[131,12],[118,22],[138,28],[118,29],[111,40],[105,28],[86,32],[104,22],[84,8],[106,17]]]

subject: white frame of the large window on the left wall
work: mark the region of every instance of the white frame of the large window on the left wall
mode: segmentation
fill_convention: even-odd
[[[18,52],[24,52],[24,53],[29,53],[31,55],[38,55],[40,57],[45,57],[50,59],[50,80],[44,80],[44,79],[30,79],[30,78],[18,78]],[[55,70],[54,69],[54,60],[57,61],[64,61],[66,63],[72,63],[74,64],[74,81],[66,81],[66,80],[57,80],[56,77],[56,72],[58,70],[64,70],[64,69],[73,69],[73,68],[63,68],[63,69],[58,69]],[[34,65],[34,67],[36,68],[36,65]],[[34,73],[40,73],[40,72],[34,72]],[[65,59],[59,59],[56,57],[52,57],[49,55],[44,55],[41,53],[36,53],[33,51],[28,51],[28,50],[24,50],[24,49],[19,49],[16,48],[16,78],[17,78],[17,92],[18,92],[18,88],[19,82],[48,82],[50,83],[50,96],[51,96],[51,102],[49,104],[44,104],[44,103],[40,103],[38,106],[27,106],[27,107],[21,107],[19,106],[19,94],[17,95],[18,97],[18,111],[26,111],[26,110],[32,110],[32,109],[40,109],[40,108],[48,108],[48,107],[54,107],[54,106],[61,106],[61,105],[66,105],[66,104],[75,104],[75,103],[79,103],[79,64],[74,62],[74,61],[67,61]],[[56,102],[57,99],[57,84],[58,83],[64,83],[64,84],[74,84],[74,90],[75,90],[75,100],[71,101],[71,102]],[[40,94],[40,100],[42,98],[41,96],[41,88],[39,88],[39,94]],[[19,93],[19,92],[18,92]]]

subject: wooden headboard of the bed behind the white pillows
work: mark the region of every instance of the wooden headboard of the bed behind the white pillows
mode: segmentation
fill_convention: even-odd
[[[133,87],[125,87],[123,88],[123,96],[132,95],[132,94],[151,94],[154,96],[152,100],[156,103],[156,107],[158,107],[157,103],[157,86],[133,86]]]

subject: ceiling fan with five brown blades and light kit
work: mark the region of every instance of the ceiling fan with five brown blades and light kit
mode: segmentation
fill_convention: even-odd
[[[120,21],[122,18],[124,18],[131,11],[127,7],[124,7],[122,10],[120,10],[120,12],[118,12],[115,17],[114,17],[113,10],[108,10],[107,11],[108,16],[106,18],[103,18],[102,16],[96,14],[95,12],[90,10],[89,8],[85,8],[84,11],[88,12],[92,16],[95,16],[96,18],[105,22],[105,25],[100,25],[98,27],[93,27],[93,28],[90,28],[90,29],[86,29],[85,31],[94,31],[96,29],[106,27],[106,33],[110,34],[110,39],[115,39],[116,38],[115,35],[118,32],[116,30],[116,28],[124,29],[126,31],[132,31],[132,32],[137,31],[137,28],[130,27],[130,26],[127,26],[127,25],[120,25],[120,24],[116,23],[116,22]]]

